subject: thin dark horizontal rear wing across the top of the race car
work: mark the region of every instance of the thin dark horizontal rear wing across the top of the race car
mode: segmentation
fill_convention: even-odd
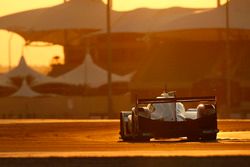
[[[216,104],[216,96],[202,97],[176,97],[176,98],[154,98],[154,99],[137,99],[136,105],[149,103],[176,103],[176,102],[210,102]]]

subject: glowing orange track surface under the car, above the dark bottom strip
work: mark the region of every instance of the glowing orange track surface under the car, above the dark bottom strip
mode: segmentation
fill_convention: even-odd
[[[0,157],[250,156],[250,121],[219,120],[218,140],[129,143],[118,120],[1,120]]]

